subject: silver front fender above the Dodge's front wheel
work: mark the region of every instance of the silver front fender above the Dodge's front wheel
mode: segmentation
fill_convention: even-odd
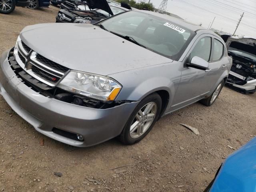
[[[152,92],[165,90],[172,102],[180,82],[180,66],[180,62],[172,62],[110,75],[123,86],[116,100],[139,101]]]

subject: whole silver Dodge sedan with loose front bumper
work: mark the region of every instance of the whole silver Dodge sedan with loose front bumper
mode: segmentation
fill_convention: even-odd
[[[231,65],[214,32],[128,11],[94,25],[26,26],[0,58],[0,93],[60,142],[92,146],[118,137],[134,144],[162,116],[198,101],[214,104]]]

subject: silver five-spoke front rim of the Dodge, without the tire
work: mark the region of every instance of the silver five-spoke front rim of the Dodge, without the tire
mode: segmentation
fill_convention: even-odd
[[[149,102],[144,105],[132,121],[132,125],[130,126],[130,136],[132,138],[138,138],[144,134],[153,123],[156,112],[157,105],[155,102]]]

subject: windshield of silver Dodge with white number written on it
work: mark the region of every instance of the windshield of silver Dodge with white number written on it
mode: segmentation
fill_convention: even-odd
[[[110,32],[131,37],[148,50],[173,60],[180,57],[195,34],[171,20],[137,11],[125,12],[100,24]]]

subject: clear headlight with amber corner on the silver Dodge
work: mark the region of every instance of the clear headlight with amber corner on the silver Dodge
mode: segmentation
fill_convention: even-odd
[[[113,101],[122,88],[111,78],[76,71],[70,71],[58,87],[103,101]]]

